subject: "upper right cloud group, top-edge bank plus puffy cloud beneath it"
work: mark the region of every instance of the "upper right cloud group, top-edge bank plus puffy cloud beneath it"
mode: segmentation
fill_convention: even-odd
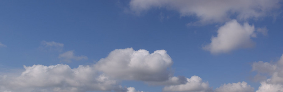
[[[276,16],[280,13],[279,0],[131,0],[130,10],[140,14],[150,9],[163,8],[174,10],[180,16],[197,17],[198,21],[191,21],[187,25],[205,25],[225,23],[219,28],[217,37],[204,47],[212,54],[227,53],[239,48],[252,47],[250,37],[256,37],[253,25],[237,21],[258,20],[262,17]],[[237,20],[237,21],[236,21]],[[266,27],[257,28],[257,33],[267,35]]]

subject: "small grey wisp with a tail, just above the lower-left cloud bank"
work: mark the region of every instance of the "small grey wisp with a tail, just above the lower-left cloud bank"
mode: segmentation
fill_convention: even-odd
[[[59,59],[62,59],[65,62],[72,62],[72,60],[83,60],[83,59],[88,59],[87,56],[75,56],[74,55],[74,50],[72,51],[67,51],[65,53],[62,53],[58,57]]]

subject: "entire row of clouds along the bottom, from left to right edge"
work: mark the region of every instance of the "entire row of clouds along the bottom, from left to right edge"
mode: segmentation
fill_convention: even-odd
[[[93,65],[71,68],[66,64],[33,65],[26,67],[19,76],[0,75],[0,91],[3,92],[144,92],[134,87],[123,87],[123,80],[143,81],[149,85],[161,85],[164,92],[253,92],[246,82],[228,83],[213,90],[208,82],[198,76],[186,78],[173,76],[173,61],[165,50],[149,53],[133,48],[116,49]],[[283,91],[283,55],[277,63],[255,62],[253,71],[269,75],[261,81],[257,92]]]

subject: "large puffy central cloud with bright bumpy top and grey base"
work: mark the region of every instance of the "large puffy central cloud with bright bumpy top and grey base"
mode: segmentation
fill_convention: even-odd
[[[123,80],[166,81],[172,76],[172,59],[165,50],[149,53],[144,49],[116,49],[95,64],[111,77]]]

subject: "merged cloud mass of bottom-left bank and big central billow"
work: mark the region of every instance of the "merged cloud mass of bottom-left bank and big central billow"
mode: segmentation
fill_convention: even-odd
[[[122,80],[169,81],[168,85],[178,84],[182,77],[171,77],[172,63],[165,50],[157,50],[149,54],[143,49],[138,51],[134,51],[133,48],[116,49],[94,65],[80,65],[73,69],[66,64],[24,66],[25,71],[20,76],[0,76],[0,91],[144,92],[137,91],[134,87],[122,87],[119,82]]]

